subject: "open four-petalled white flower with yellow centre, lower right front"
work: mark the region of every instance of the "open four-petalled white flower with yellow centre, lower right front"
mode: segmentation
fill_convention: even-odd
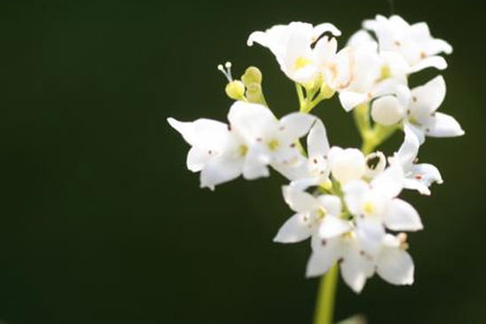
[[[375,254],[385,235],[392,231],[418,231],[423,228],[418,212],[408,202],[396,198],[404,187],[403,170],[388,167],[370,183],[352,181],[343,186],[344,201],[356,217],[357,239],[363,249]]]

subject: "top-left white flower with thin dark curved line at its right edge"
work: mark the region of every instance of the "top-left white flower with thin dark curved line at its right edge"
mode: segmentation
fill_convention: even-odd
[[[321,73],[322,61],[319,54],[335,52],[335,40],[323,37],[325,32],[340,36],[341,31],[330,23],[313,27],[308,23],[291,22],[288,25],[277,25],[266,31],[255,31],[247,40],[248,46],[253,43],[270,49],[282,71],[297,83],[313,83]],[[317,43],[316,43],[317,42]],[[315,48],[312,44],[316,43]]]

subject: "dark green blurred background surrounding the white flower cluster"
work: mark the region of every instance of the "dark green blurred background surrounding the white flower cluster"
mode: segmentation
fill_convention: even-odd
[[[443,172],[430,198],[407,193],[416,283],[342,281],[336,318],[371,324],[486,319],[485,37],[480,1],[395,2],[454,53],[441,110],[466,136],[427,139]],[[263,70],[277,115],[294,85],[247,36],[278,23],[333,22],[341,45],[388,1],[13,1],[0,3],[0,322],[310,323],[317,280],[308,242],[271,240],[291,215],[275,176],[200,190],[168,116],[225,120],[218,63]],[[413,76],[419,84],[436,75]],[[357,146],[337,99],[315,109],[331,142]],[[382,149],[391,154],[402,137]]]

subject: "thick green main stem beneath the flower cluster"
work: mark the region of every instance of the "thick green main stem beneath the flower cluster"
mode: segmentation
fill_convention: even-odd
[[[339,277],[339,265],[334,264],[321,278],[317,293],[314,324],[333,324],[334,299]]]

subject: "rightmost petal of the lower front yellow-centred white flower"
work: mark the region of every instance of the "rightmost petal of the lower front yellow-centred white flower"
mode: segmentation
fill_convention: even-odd
[[[397,198],[388,203],[385,225],[392,231],[419,231],[424,228],[417,210]]]

